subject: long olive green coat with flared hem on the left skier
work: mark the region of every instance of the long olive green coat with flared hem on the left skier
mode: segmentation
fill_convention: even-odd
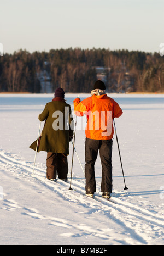
[[[65,102],[52,101],[45,105],[40,121],[45,121],[37,152],[69,154],[69,136],[73,136],[71,106]],[[37,140],[30,148],[36,151]]]

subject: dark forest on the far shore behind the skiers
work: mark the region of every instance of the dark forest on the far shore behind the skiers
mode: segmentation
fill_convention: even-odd
[[[0,92],[90,92],[97,79],[108,92],[164,92],[159,53],[109,49],[20,50],[0,57]],[[49,91],[48,91],[49,88]]]

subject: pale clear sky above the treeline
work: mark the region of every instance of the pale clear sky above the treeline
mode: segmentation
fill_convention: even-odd
[[[164,0],[4,0],[0,43],[19,49],[109,48],[159,52]]]

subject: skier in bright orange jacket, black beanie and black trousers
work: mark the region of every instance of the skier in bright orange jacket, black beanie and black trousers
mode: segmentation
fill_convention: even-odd
[[[86,195],[93,197],[96,192],[95,162],[98,151],[102,164],[102,197],[110,198],[112,193],[112,138],[114,134],[113,118],[119,118],[122,110],[114,99],[107,96],[103,81],[97,80],[91,97],[74,100],[74,113],[86,115],[85,129],[85,178]]]

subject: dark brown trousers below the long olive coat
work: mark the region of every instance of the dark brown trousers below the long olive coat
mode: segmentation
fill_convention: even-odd
[[[68,161],[66,154],[48,152],[46,166],[47,179],[56,179],[56,173],[59,179],[67,179]]]

